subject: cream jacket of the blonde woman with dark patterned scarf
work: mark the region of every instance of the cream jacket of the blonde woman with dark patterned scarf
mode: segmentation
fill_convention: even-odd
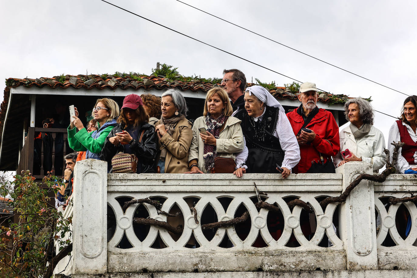
[[[207,173],[204,168],[203,150],[204,143],[200,137],[198,128],[206,128],[207,125],[204,116],[197,118],[193,125],[193,140],[191,141],[190,153],[188,154],[188,161],[198,159],[198,168],[203,173]],[[243,133],[240,127],[238,118],[230,116],[224,129],[219,134],[219,139],[216,140],[217,156],[223,158],[236,158],[235,153],[239,153],[244,149]]]

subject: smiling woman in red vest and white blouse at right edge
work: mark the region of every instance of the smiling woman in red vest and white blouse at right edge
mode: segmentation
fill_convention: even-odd
[[[417,96],[412,95],[404,100],[402,114],[391,126],[388,133],[388,150],[390,160],[394,141],[404,143],[398,150],[398,158],[394,164],[398,174],[417,174]]]

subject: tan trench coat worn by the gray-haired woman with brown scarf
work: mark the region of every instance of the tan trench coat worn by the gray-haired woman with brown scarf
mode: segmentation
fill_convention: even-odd
[[[161,120],[156,122],[155,126],[161,124]],[[188,172],[188,150],[190,149],[193,131],[191,123],[186,119],[180,120],[174,128],[171,135],[164,134],[161,140],[158,140],[158,148],[167,149],[165,158],[165,173]],[[159,158],[158,158],[159,159]]]

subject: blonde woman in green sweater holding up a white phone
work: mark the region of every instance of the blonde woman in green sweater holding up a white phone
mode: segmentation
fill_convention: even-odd
[[[91,114],[97,121],[97,130],[87,132],[83,123],[78,118],[78,111],[75,108],[75,116],[71,119],[68,127],[68,143],[75,151],[85,151],[85,159],[94,158],[100,160],[100,151],[110,131],[117,125],[119,116],[119,105],[109,98],[98,99]],[[78,132],[75,130],[78,130]]]

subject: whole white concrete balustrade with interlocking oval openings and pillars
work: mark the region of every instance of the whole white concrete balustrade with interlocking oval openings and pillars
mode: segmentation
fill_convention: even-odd
[[[287,179],[279,174],[246,174],[243,178],[231,174],[107,174],[106,169],[107,164],[98,160],[80,161],[75,168],[74,250],[69,273],[80,277],[143,272],[191,275],[194,272],[314,270],[378,271],[379,275],[385,275],[384,270],[392,269],[407,270],[408,275],[417,269],[413,259],[417,251],[414,246],[416,206],[404,203],[412,228],[403,239],[395,223],[401,204],[390,205],[387,211],[384,201],[387,196],[403,197],[407,191],[417,192],[414,175],[390,175],[384,183],[363,180],[345,203],[331,203],[322,208],[319,200],[340,195],[357,175],[372,173],[371,165],[350,162],[337,168],[335,174],[299,174]],[[282,231],[277,240],[268,225],[274,220],[268,218],[271,212],[258,210],[254,205],[257,202],[254,183],[260,192],[267,194],[261,195],[266,202],[281,210]],[[143,206],[149,218],[167,221],[167,216],[158,214],[148,204],[130,205],[123,212],[118,202],[121,197],[159,198],[163,200],[161,210],[166,212],[178,207],[181,215],[176,217],[184,222],[182,234],[174,240],[167,230],[150,226],[149,231],[140,232],[144,238],[140,240],[133,225],[139,206]],[[196,201],[198,224],[190,210],[191,198]],[[299,206],[291,210],[287,205],[289,198],[309,203],[314,210],[310,219]],[[243,240],[241,230],[234,226],[219,228],[213,238],[206,237],[201,228],[205,216],[201,218],[209,206],[222,221],[240,216],[237,212],[241,205],[250,215],[250,230]],[[375,211],[381,224],[376,223]],[[108,215],[112,213],[116,218],[115,229],[108,231],[111,225]],[[303,233],[303,225],[309,225],[314,232],[310,240]],[[110,232],[113,236],[108,241]],[[395,246],[383,246],[388,234]],[[226,236],[229,243],[221,244]],[[196,240],[198,248],[189,248],[190,238]],[[129,248],[126,244],[121,248],[121,242],[126,239]],[[259,242],[265,247],[256,247]],[[55,273],[61,270],[57,268]]]

